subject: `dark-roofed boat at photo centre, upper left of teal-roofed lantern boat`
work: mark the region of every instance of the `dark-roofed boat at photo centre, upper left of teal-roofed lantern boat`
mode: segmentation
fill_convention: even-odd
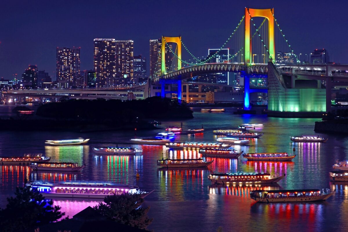
[[[207,167],[213,162],[205,162],[203,159],[181,159],[181,160],[172,160],[172,159],[161,159],[157,160],[157,165],[166,168],[199,168]]]

